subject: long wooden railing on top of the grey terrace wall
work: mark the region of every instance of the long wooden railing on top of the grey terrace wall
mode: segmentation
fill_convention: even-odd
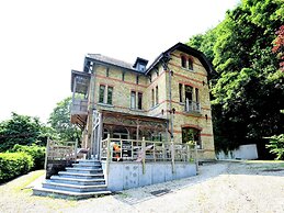
[[[194,161],[196,146],[166,142],[106,138],[101,159],[111,161]]]

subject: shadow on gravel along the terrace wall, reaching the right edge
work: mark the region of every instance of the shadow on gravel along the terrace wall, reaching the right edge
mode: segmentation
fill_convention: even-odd
[[[114,198],[129,205],[137,204],[158,197],[166,197],[170,193],[178,193],[180,190],[191,188],[205,181],[209,181],[219,176],[226,175],[250,175],[250,176],[283,176],[284,164],[275,162],[247,162],[216,161],[215,164],[204,164],[200,166],[198,175],[185,179],[168,181],[163,183],[146,186],[136,189],[116,192]]]

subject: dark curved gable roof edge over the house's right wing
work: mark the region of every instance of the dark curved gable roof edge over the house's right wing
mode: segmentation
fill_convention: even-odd
[[[185,44],[182,44],[182,43],[178,43],[175,44],[174,46],[170,47],[168,51],[161,53],[155,60],[154,63],[148,67],[148,69],[146,70],[146,75],[158,64],[160,63],[161,60],[168,60],[168,57],[170,56],[170,54],[174,51],[180,51],[180,52],[183,52],[183,53],[186,53],[189,55],[192,55],[196,58],[200,59],[201,64],[204,66],[204,68],[207,70],[208,75],[214,75],[215,74],[215,70],[212,66],[212,64],[207,60],[207,58],[205,57],[205,55],[195,49],[195,48],[192,48]]]

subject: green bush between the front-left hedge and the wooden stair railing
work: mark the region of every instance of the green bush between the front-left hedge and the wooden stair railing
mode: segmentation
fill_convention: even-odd
[[[33,157],[34,166],[32,169],[43,169],[45,161],[45,147],[43,146],[23,146],[23,145],[14,145],[14,147],[10,150],[12,153],[27,153]]]

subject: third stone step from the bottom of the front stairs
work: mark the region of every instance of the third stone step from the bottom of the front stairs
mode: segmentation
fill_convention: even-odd
[[[81,186],[105,184],[104,179],[76,179],[76,178],[63,178],[60,176],[52,176],[50,180],[53,182],[72,183],[72,184],[81,184]]]

